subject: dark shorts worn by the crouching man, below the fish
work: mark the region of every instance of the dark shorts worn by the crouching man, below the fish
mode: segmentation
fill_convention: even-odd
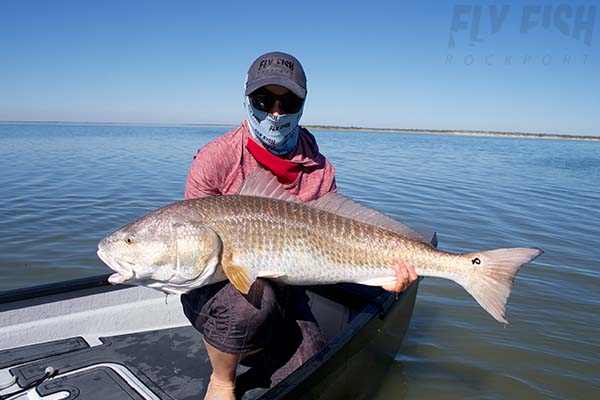
[[[302,287],[258,279],[243,295],[225,281],[182,295],[181,303],[192,325],[218,350],[243,354],[264,349],[259,354],[277,371],[275,382],[325,344]]]

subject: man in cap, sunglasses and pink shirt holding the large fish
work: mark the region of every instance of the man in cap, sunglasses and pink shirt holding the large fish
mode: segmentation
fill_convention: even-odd
[[[306,76],[295,57],[273,52],[257,58],[245,85],[247,119],[198,151],[185,198],[234,194],[257,168],[271,171],[302,201],[336,191],[333,166],[299,125],[306,93]],[[397,264],[397,283],[386,290],[402,291],[417,279],[410,265]],[[277,383],[324,345],[300,287],[259,279],[243,295],[221,282],[182,296],[182,304],[203,334],[213,368],[205,399],[234,399],[236,367],[249,355],[262,356],[261,365]]]

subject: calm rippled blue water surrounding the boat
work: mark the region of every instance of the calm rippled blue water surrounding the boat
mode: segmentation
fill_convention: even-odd
[[[180,199],[226,128],[0,124],[0,290],[107,273],[96,243]],[[536,246],[510,325],[452,282],[422,282],[379,399],[597,398],[600,142],[317,131],[340,191],[440,248]]]

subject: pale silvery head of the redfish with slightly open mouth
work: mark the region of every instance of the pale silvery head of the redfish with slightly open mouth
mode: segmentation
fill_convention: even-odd
[[[156,210],[98,243],[98,257],[115,271],[110,283],[185,293],[215,281],[221,238],[179,204]]]

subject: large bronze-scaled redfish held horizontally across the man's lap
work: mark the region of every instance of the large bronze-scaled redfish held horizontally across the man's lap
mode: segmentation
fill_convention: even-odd
[[[300,203],[266,172],[252,175],[237,195],[173,203],[98,244],[98,256],[116,272],[111,283],[166,293],[227,278],[243,293],[258,277],[382,286],[395,282],[395,260],[402,259],[419,275],[458,283],[503,323],[516,273],[541,253],[436,250],[406,225],[339,194]]]

